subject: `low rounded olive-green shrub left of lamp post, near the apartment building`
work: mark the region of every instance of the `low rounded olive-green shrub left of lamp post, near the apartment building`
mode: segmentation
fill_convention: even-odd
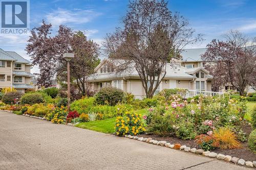
[[[36,103],[43,103],[44,102],[44,98],[42,96],[42,94],[37,93],[37,92],[31,92],[31,93],[25,93],[22,96],[22,99],[20,99],[20,104],[22,105],[33,105]]]

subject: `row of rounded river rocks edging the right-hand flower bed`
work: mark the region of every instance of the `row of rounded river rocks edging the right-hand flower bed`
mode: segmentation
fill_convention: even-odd
[[[189,147],[186,147],[186,145],[181,145],[179,143],[171,144],[166,141],[153,140],[151,137],[144,138],[144,137],[138,137],[138,136],[132,136],[132,135],[125,135],[124,137],[129,138],[129,139],[144,141],[144,142],[151,143],[151,144],[160,145],[160,146],[166,147],[166,148],[172,148],[172,149],[176,149],[176,150],[180,150],[180,151],[184,151],[184,152],[194,153],[197,155],[208,156],[210,158],[216,158],[219,160],[224,160],[226,162],[232,162],[234,164],[238,164],[238,165],[242,165],[242,166],[245,165],[247,167],[256,167],[256,161],[253,161],[253,162],[245,161],[244,159],[240,159],[237,157],[231,157],[229,155],[217,154],[215,152],[204,151],[202,149],[189,148]]]

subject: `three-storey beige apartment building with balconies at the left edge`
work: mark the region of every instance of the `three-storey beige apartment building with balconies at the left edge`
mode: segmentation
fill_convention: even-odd
[[[25,93],[30,85],[32,63],[15,52],[4,51],[0,48],[0,89],[12,87]]]

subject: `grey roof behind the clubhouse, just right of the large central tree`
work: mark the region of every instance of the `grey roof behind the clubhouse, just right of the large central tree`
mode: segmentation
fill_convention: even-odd
[[[206,48],[191,48],[184,49],[181,52],[182,61],[193,62],[193,61],[202,61],[201,55],[206,52]]]

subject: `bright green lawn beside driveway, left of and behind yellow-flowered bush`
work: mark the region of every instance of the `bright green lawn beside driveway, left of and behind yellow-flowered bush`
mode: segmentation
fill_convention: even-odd
[[[147,114],[147,109],[141,109],[141,110],[136,110],[135,113],[138,114]],[[115,129],[115,122],[116,122],[116,117],[113,118],[108,118],[108,119],[103,119],[103,120],[95,120],[93,122],[86,122],[86,123],[79,123],[76,125],[78,128],[83,128],[83,129],[90,129],[93,131],[97,132],[103,132],[103,133],[114,133]]]

